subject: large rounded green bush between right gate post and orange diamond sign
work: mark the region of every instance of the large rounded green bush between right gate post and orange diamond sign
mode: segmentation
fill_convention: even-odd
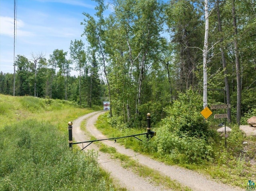
[[[215,136],[200,114],[201,96],[192,90],[180,93],[179,99],[166,109],[168,116],[158,124],[154,138],[160,158],[175,163],[204,163],[214,158]]]

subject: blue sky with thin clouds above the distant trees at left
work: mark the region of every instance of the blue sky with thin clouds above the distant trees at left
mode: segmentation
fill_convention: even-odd
[[[46,59],[54,49],[69,52],[70,41],[82,39],[83,12],[95,13],[91,0],[17,0],[15,55],[31,59],[43,53]],[[110,13],[110,10],[106,14]],[[87,43],[86,43],[87,45]],[[69,54],[68,57],[69,58]],[[0,0],[0,71],[13,73],[14,0]]]

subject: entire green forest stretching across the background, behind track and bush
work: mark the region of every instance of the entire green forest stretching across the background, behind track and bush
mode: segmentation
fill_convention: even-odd
[[[240,124],[255,112],[255,0],[96,2],[95,15],[83,13],[83,40],[70,40],[69,58],[63,49],[49,59],[33,50],[30,58],[16,55],[15,73],[0,73],[0,93],[70,100],[80,107],[110,101],[114,124],[141,126],[148,112],[154,124],[180,93],[200,96],[198,112],[204,108],[207,45],[208,105],[231,104],[229,123]]]

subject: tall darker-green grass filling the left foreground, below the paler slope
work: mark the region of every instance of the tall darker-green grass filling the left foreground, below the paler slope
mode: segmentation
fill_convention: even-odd
[[[25,120],[0,139],[0,190],[107,190],[97,155],[70,151],[54,126]]]

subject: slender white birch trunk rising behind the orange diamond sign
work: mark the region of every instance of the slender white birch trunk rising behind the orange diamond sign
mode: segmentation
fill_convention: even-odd
[[[204,0],[204,12],[205,12],[205,34],[204,34],[204,51],[203,51],[203,73],[204,73],[204,92],[203,103],[204,108],[207,106],[207,49],[208,49],[208,0]]]

